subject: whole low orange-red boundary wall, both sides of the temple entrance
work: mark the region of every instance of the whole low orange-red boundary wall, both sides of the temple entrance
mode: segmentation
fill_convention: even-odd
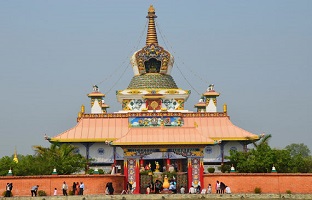
[[[261,188],[262,193],[285,194],[290,190],[292,194],[312,194],[312,173],[309,174],[279,174],[279,173],[213,173],[204,174],[204,187],[212,184],[212,192],[215,193],[216,181],[222,181],[230,186],[233,194],[254,194],[256,187]],[[71,190],[72,183],[84,182],[86,195],[104,194],[107,182],[113,182],[115,194],[120,194],[124,184],[123,175],[49,175],[49,176],[2,176],[0,188],[4,191],[6,183],[13,183],[14,196],[30,196],[32,186],[38,184],[39,190],[44,190],[47,195],[53,194],[56,187],[58,195],[62,195],[63,181]]]

